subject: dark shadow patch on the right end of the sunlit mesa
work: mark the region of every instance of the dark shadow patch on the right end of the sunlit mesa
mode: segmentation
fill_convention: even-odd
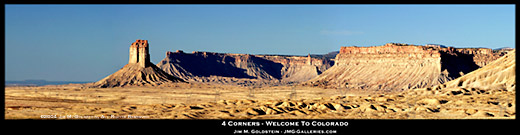
[[[451,79],[458,78],[463,74],[467,74],[480,68],[480,66],[475,64],[472,54],[449,53],[443,51],[440,51],[440,53],[441,71],[447,70],[449,73],[448,77]]]

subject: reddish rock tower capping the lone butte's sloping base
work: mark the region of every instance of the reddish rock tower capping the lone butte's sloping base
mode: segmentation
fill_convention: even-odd
[[[130,46],[130,58],[128,64],[139,64],[141,67],[148,67],[150,63],[150,54],[148,51],[148,40],[136,40]]]

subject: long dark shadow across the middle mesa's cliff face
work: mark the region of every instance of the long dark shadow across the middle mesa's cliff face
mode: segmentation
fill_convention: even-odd
[[[253,55],[229,56],[218,53],[172,53],[169,62],[182,67],[193,76],[235,77],[235,78],[269,78],[281,79],[280,63],[255,57]]]

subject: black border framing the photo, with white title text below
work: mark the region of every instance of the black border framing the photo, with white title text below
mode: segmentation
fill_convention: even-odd
[[[62,1],[62,0],[6,0],[5,4],[294,4],[293,2],[304,2],[300,4],[372,4],[375,1],[211,1],[211,0],[194,0],[194,1],[106,1],[106,0],[75,0],[75,1]],[[271,3],[268,3],[271,2]],[[423,3],[408,3],[408,2],[423,2]],[[481,3],[465,3],[461,1],[382,1],[378,4],[514,4],[516,7],[517,1],[478,1]],[[483,3],[482,3],[483,2]],[[4,11],[4,23],[5,23],[5,9]],[[4,44],[5,44],[5,29],[4,29]],[[5,45],[4,51],[4,72],[5,72]],[[5,75],[5,74],[4,74]],[[5,77],[3,78],[5,79]],[[5,81],[5,80],[4,80]],[[4,87],[5,88],[5,87]],[[5,91],[3,91],[5,92]],[[5,102],[5,100],[4,100]],[[2,105],[5,106],[5,103]],[[5,112],[5,108],[2,107]],[[5,113],[4,113],[5,116]],[[2,116],[2,117],[4,117]],[[4,118],[5,120],[5,118]],[[240,126],[240,127],[229,127],[222,126],[221,123],[224,121],[343,121],[348,122],[347,127],[251,127],[251,126]],[[114,133],[138,133],[136,131],[145,131],[143,133],[151,134],[153,132],[166,132],[167,134],[179,134],[181,132],[187,132],[188,134],[233,134],[234,130],[240,129],[334,129],[337,130],[337,134],[375,134],[375,133],[386,133],[386,134],[456,134],[456,133],[478,133],[484,132],[491,133],[513,133],[519,124],[516,119],[514,120],[497,120],[497,119],[419,119],[419,120],[386,120],[386,119],[288,119],[288,120],[108,120],[104,122],[98,122],[98,120],[66,120],[66,121],[81,121],[79,124],[61,124],[61,120],[54,124],[45,124],[49,120],[31,120],[32,122],[27,123],[26,120],[8,120],[9,124],[4,124],[9,127],[17,127],[23,129],[22,131],[35,131],[35,132],[59,132],[59,131],[75,131],[71,133],[102,133],[102,132],[114,132]],[[103,120],[102,120],[103,121]],[[116,123],[113,123],[113,122]],[[159,122],[160,121],[160,122]],[[96,122],[91,124],[90,122]],[[136,123],[137,122],[137,123]],[[58,123],[57,125],[55,123]],[[8,129],[6,127],[5,129]],[[13,130],[13,129],[10,129]],[[13,130],[14,131],[14,130]],[[182,134],[182,133],[181,133]]]

